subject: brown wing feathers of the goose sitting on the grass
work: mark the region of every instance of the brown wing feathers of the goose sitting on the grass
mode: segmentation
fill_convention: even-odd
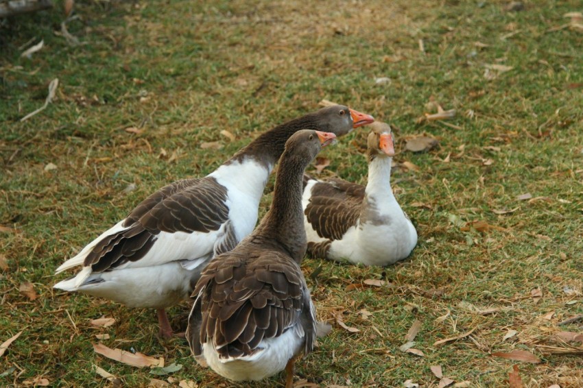
[[[364,190],[364,186],[340,179],[314,184],[304,213],[318,236],[342,239],[359,219]]]

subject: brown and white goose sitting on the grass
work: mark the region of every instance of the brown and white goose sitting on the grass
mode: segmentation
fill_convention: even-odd
[[[368,184],[304,178],[302,206],[313,257],[391,265],[411,254],[417,232],[391,189],[394,139],[375,121],[368,135]]]

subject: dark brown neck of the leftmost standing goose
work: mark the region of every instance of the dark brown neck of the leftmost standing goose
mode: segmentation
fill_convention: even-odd
[[[289,136],[292,136],[298,130],[320,130],[319,127],[316,115],[306,114],[261,134],[261,136],[237,152],[230,160],[241,161],[246,157],[252,157],[267,166],[271,171],[281,154],[283,154],[285,142]]]

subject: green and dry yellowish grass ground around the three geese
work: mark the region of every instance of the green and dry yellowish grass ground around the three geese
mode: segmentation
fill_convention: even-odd
[[[239,386],[195,365],[185,340],[160,341],[152,311],[55,292],[62,277],[53,271],[158,187],[209,173],[260,132],[326,98],[394,126],[393,188],[420,239],[394,267],[305,260],[307,275],[322,266],[317,284],[307,278],[320,319],[334,330],[298,363],[296,380],[400,387],[411,379],[435,387],[429,367],[442,365],[456,383],[500,387],[518,362],[491,353],[516,349],[542,359],[519,363],[525,387],[580,387],[580,356],[540,346],[567,348],[550,337],[582,328],[558,323],[583,313],[583,34],[554,29],[569,23],[563,14],[580,11],[580,2],[524,1],[518,12],[507,4],[85,1],[75,3],[79,19],[67,24],[76,46],[58,34],[60,6],[1,23],[0,256],[7,268],[0,341],[23,334],[1,356],[0,384],[44,377],[58,387],[110,385],[92,364],[129,387],[167,380],[95,354],[94,335],[107,333],[110,348],[183,365],[171,374],[173,386]],[[45,47],[21,58],[32,38]],[[489,64],[512,69],[491,70],[487,79]],[[57,77],[53,103],[19,121],[43,105]],[[376,84],[377,77],[390,82]],[[417,122],[436,112],[429,101],[456,110],[447,121],[453,126]],[[324,175],[366,182],[366,134],[327,149]],[[438,138],[440,147],[405,151],[405,139],[417,134]],[[221,149],[200,147],[215,141]],[[45,171],[49,163],[56,169]],[[525,193],[532,198],[517,199]],[[269,202],[266,195],[261,214]],[[492,211],[504,209],[514,211]],[[502,229],[462,230],[473,221]],[[366,279],[390,285],[361,287]],[[25,282],[36,300],[19,292]],[[532,298],[533,289],[542,298]],[[175,328],[187,312],[186,303],[171,309]],[[89,324],[102,315],[115,325]],[[337,316],[360,331],[344,330]],[[398,350],[415,319],[423,357]],[[510,329],[517,335],[503,341]]]

